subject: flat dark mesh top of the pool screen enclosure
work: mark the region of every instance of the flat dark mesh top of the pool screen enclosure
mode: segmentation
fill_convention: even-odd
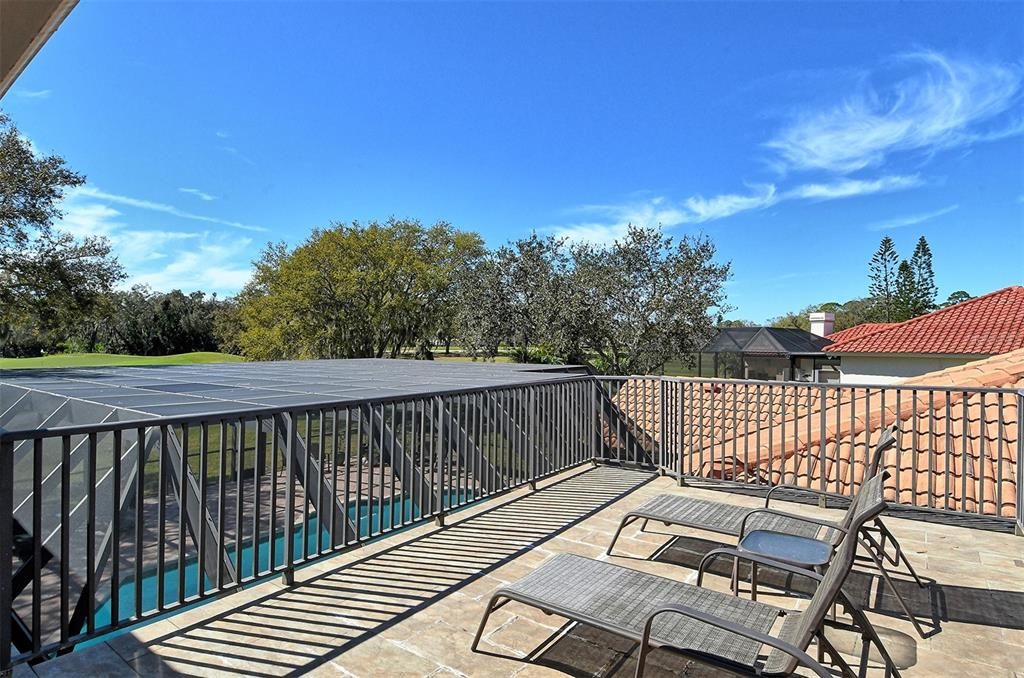
[[[348,359],[0,371],[0,432],[522,385],[574,366]]]

